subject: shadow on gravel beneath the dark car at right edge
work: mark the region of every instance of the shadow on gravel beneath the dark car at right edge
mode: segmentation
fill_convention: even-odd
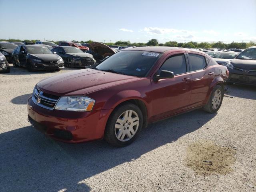
[[[256,86],[233,84],[226,87],[228,88],[225,93],[227,95],[256,100]]]

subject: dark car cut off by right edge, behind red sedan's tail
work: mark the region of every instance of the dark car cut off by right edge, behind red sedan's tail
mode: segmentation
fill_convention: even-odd
[[[249,47],[226,63],[228,83],[256,85],[256,46]]]

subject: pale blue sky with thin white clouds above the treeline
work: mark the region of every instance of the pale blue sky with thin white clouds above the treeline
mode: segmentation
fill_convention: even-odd
[[[0,38],[256,41],[256,0],[0,0]]]

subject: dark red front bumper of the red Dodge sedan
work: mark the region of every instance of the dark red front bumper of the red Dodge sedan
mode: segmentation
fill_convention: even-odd
[[[40,132],[69,143],[102,139],[110,110],[71,112],[48,110],[28,99],[28,121]]]

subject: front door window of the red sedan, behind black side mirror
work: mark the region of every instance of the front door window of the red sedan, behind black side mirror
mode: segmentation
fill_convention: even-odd
[[[182,74],[187,72],[186,59],[184,54],[175,55],[168,58],[161,66],[161,70],[167,70],[174,72],[174,75]]]

